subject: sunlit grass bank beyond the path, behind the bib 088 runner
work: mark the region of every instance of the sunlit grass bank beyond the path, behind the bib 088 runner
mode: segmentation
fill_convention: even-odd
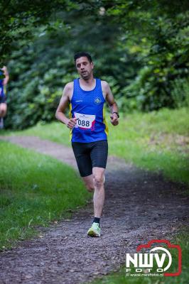
[[[119,126],[109,123],[109,153],[126,163],[163,173],[189,185],[188,109],[161,109],[148,114],[121,114]],[[108,116],[107,116],[108,120]],[[68,128],[59,122],[3,135],[32,135],[70,146]]]

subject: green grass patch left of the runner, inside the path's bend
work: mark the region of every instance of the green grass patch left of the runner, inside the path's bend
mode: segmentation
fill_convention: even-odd
[[[90,194],[68,165],[0,141],[0,249],[36,234],[68,209],[81,207]]]

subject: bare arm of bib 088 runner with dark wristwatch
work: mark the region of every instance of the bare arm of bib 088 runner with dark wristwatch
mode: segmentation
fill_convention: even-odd
[[[109,87],[109,84],[105,81],[103,81],[103,91],[104,91],[105,99],[107,100],[107,103],[109,104],[109,109],[111,111],[111,116],[110,116],[111,123],[112,125],[117,126],[117,124],[119,124],[119,118],[117,114],[115,114],[115,112],[118,112],[117,103],[114,100],[114,96]]]

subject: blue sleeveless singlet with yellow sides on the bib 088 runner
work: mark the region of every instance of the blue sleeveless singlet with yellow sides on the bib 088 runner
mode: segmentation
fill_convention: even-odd
[[[95,89],[85,91],[80,87],[79,78],[74,80],[70,101],[70,118],[76,117],[77,124],[70,131],[72,142],[90,143],[107,140],[107,123],[104,114],[104,96],[101,80],[96,79]]]

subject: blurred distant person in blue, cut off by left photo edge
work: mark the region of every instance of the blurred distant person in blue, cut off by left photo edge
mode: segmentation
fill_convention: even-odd
[[[0,69],[0,129],[4,128],[4,116],[6,116],[6,84],[9,82],[9,72],[4,66]]]

